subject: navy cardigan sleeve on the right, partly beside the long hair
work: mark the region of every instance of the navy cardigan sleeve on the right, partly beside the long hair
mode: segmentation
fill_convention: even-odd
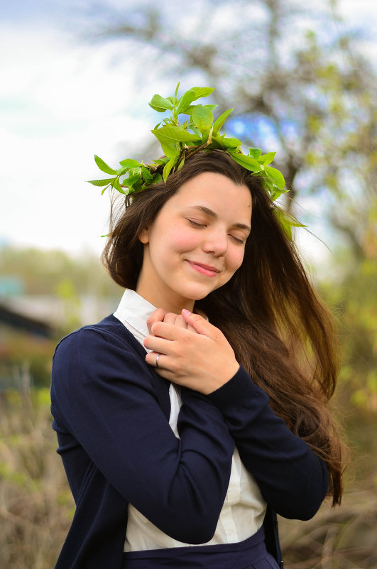
[[[327,494],[327,467],[268,405],[268,396],[239,371],[207,396],[224,413],[247,470],[281,516],[310,519]]]

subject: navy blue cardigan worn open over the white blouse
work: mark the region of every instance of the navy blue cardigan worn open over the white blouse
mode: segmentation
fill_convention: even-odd
[[[327,493],[324,462],[242,368],[208,396],[182,389],[176,438],[170,384],[145,354],[112,315],[55,350],[53,428],[76,503],[56,569],[121,569],[129,502],[179,541],[209,541],[234,444],[268,502],[266,543],[279,563],[274,511],[310,519]]]

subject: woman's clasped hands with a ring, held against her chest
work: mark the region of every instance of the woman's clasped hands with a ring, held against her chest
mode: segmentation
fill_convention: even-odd
[[[182,310],[177,315],[158,308],[148,318],[148,330],[144,345],[152,351],[146,362],[175,384],[207,395],[239,369],[226,337],[199,314]]]

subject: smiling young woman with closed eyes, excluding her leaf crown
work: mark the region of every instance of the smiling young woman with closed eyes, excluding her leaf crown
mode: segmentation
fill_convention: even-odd
[[[119,308],[60,342],[76,513],[57,568],[276,568],[276,516],[340,502],[334,332],[258,176],[200,150],[126,198]]]

